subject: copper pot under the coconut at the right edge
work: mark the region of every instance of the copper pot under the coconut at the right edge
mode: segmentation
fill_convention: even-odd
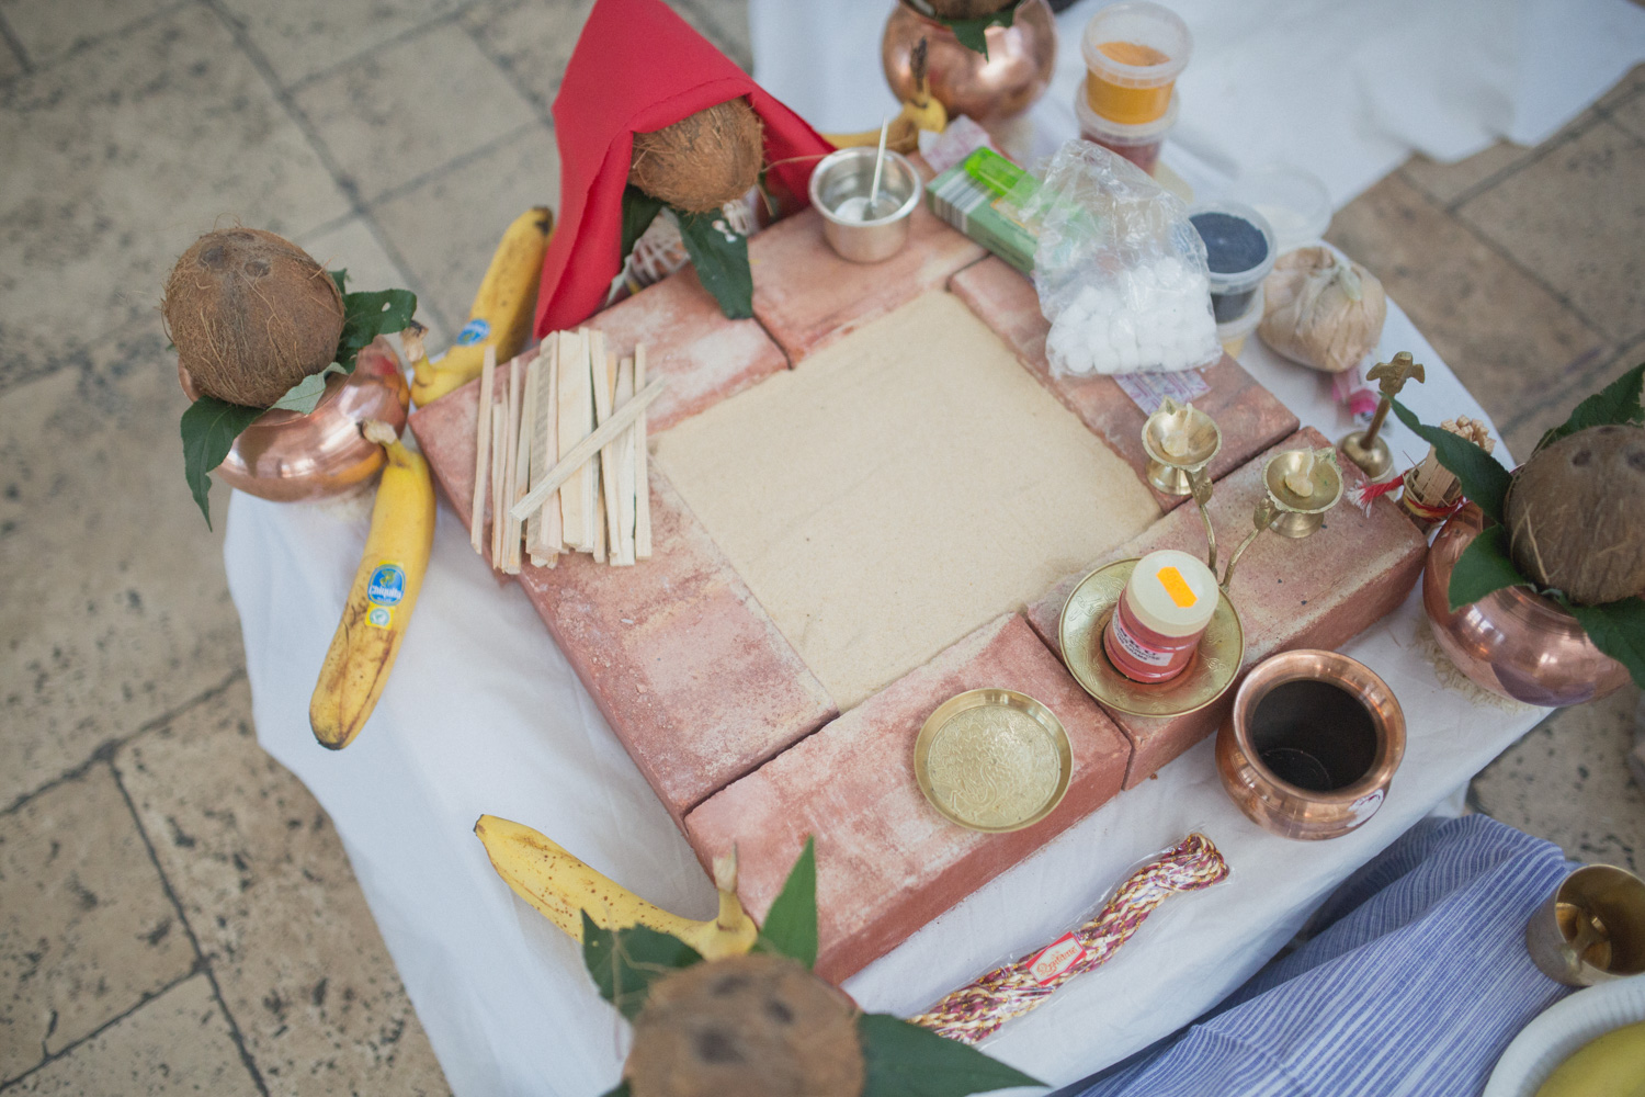
[[[1484,525],[1472,503],[1451,515],[1423,567],[1423,609],[1457,669],[1476,686],[1548,707],[1596,701],[1625,686],[1627,668],[1596,648],[1563,605],[1535,590],[1505,587],[1451,612],[1451,571]]]

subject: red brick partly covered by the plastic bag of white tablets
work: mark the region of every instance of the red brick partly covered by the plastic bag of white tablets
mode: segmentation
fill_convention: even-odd
[[[989,257],[954,275],[949,289],[999,332],[1041,385],[1142,475],[1148,464],[1142,449],[1142,424],[1148,416],[1110,377],[1051,377],[1045,359],[1045,336],[1051,324],[1040,312],[1040,298],[1028,278],[1003,260]],[[1232,472],[1296,429],[1296,416],[1229,355],[1224,354],[1204,377],[1211,391],[1194,406],[1216,419],[1222,431],[1222,449],[1211,462],[1212,479]],[[1155,497],[1166,510],[1186,500],[1160,492]]]

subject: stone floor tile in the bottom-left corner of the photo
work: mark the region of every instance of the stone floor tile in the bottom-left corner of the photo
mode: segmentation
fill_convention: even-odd
[[[30,1074],[35,1097],[257,1097],[257,1082],[206,975],[194,975]]]

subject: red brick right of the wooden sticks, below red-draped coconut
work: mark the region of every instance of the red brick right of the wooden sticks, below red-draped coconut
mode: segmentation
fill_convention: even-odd
[[[619,355],[643,342],[648,378],[668,378],[646,411],[653,434],[788,368],[760,322],[725,319],[689,265],[595,314],[589,327],[605,332]]]

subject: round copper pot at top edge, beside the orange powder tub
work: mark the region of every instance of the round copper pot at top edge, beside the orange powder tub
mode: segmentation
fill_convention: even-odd
[[[949,117],[969,115],[989,125],[1028,110],[1051,84],[1056,67],[1056,20],[1046,0],[1023,0],[1010,26],[984,31],[989,56],[959,44],[946,25],[900,0],[885,21],[880,59],[898,100],[913,99],[913,53],[926,43],[926,79]]]

